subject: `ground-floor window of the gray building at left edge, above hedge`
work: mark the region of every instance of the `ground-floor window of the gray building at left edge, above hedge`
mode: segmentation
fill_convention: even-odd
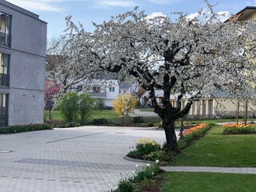
[[[8,125],[8,94],[0,94],[0,126]]]

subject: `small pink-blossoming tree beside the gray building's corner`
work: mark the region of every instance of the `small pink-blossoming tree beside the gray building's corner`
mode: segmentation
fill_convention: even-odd
[[[46,110],[49,110],[49,119],[51,119],[50,111],[54,107],[54,98],[57,98],[61,86],[58,83],[47,81],[45,82],[45,106]]]

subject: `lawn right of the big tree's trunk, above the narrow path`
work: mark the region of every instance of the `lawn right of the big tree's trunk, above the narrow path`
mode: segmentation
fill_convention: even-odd
[[[174,157],[171,166],[256,167],[256,134],[223,135],[222,130],[214,126]]]

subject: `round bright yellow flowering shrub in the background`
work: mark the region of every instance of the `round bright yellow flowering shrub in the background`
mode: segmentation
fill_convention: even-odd
[[[134,112],[134,107],[137,105],[138,99],[131,94],[118,95],[112,104],[114,106],[114,111],[122,115],[128,115]]]

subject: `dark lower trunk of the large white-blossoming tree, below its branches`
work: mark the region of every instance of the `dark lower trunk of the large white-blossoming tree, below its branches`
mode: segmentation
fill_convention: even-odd
[[[179,154],[180,150],[177,144],[177,137],[175,134],[175,127],[174,127],[174,120],[170,121],[163,121],[162,126],[166,133],[166,144],[167,144],[167,151],[172,151],[175,154]]]

